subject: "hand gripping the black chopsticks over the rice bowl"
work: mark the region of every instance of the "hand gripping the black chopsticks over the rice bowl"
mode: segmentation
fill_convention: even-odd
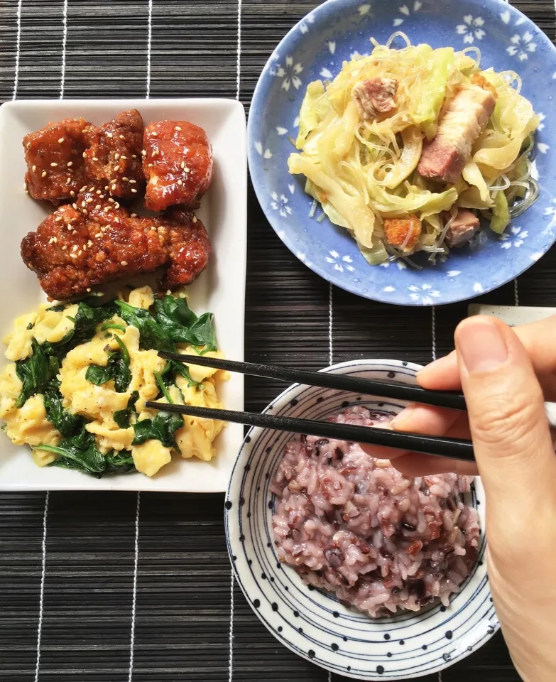
[[[426,389],[463,389],[467,413],[410,406],[399,431],[471,437],[486,492],[489,581],[504,637],[525,682],[556,680],[556,455],[544,401],[556,399],[556,318],[511,330],[468,318],[456,351],[418,374]],[[464,462],[389,454],[410,477]]]

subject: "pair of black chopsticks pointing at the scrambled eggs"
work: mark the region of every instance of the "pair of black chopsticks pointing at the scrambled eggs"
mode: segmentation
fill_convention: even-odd
[[[229,372],[252,374],[256,377],[281,379],[282,381],[308,384],[309,386],[322,386],[326,389],[381,396],[383,398],[423,403],[425,405],[452,408],[454,410],[465,411],[466,409],[465,399],[461,394],[452,391],[426,391],[420,388],[420,386],[401,384],[396,381],[361,379],[361,377],[350,377],[346,374],[332,374],[330,372],[309,372],[273,365],[256,364],[254,362],[236,362],[234,360],[206,357],[205,355],[182,355],[161,352],[160,357],[168,360],[178,360],[178,362],[185,362],[186,364],[197,364],[202,367],[225,369]],[[427,455],[440,455],[441,457],[462,460],[464,462],[474,461],[471,440],[421,435],[420,433],[403,433],[402,431],[391,431],[386,428],[351,426],[349,424],[337,424],[328,421],[312,421],[310,419],[275,416],[268,413],[235,412],[156,402],[148,402],[146,406],[193,417],[220,419],[249,426],[276,429],[277,431],[305,433],[307,435],[317,435],[321,438],[349,440],[354,443],[366,443],[367,445],[383,445],[386,448],[409,450]]]

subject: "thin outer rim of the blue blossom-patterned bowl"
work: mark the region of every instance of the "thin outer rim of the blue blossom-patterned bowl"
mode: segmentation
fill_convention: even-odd
[[[484,8],[485,2],[482,0],[467,0],[470,4],[474,4],[477,6],[477,8]],[[255,90],[253,92],[253,97],[251,97],[251,107],[249,109],[249,119],[247,121],[247,161],[249,165],[249,173],[251,173],[252,168],[255,167],[255,161],[256,161],[256,156],[254,153],[254,131],[253,131],[253,126],[255,125],[254,122],[254,115],[251,114],[253,111],[253,103],[256,102],[256,100],[262,96],[263,90],[265,87],[271,87],[270,85],[266,86],[264,81],[266,79],[266,75],[268,70],[271,68],[271,65],[273,62],[276,61],[277,55],[280,53],[280,50],[282,49],[282,46],[284,43],[286,43],[290,37],[294,36],[294,34],[299,31],[300,26],[302,23],[307,21],[307,18],[310,16],[316,16],[318,13],[321,11],[327,11],[329,6],[333,5],[338,5],[341,2],[341,0],[325,0],[320,4],[319,6],[315,7],[315,9],[312,9],[310,12],[308,12],[304,17],[302,17],[297,23],[295,23],[292,28],[288,31],[288,33],[285,34],[285,36],[280,40],[280,43],[276,45],[276,48],[272,51],[271,56],[268,58],[266,61],[263,70],[261,71],[261,75],[259,75],[257,84],[255,86]],[[531,21],[531,19],[523,14],[522,11],[520,11],[517,7],[509,4],[508,1],[506,0],[487,0],[486,4],[489,4],[491,6],[497,6],[498,8],[504,10],[504,11],[511,11],[516,13],[520,18],[523,18],[523,24],[528,26],[528,28],[535,28],[538,29],[538,26]],[[548,36],[544,33],[544,31],[540,31],[540,39],[543,40],[551,49],[552,49],[552,54],[556,58],[556,45],[552,43],[552,40],[548,38]],[[251,175],[251,180],[253,179],[253,175]],[[265,202],[265,197],[263,196],[262,193],[262,188],[258,183],[253,182],[253,187],[256,193],[256,197],[258,200],[259,205],[262,207]],[[263,211],[266,220],[271,224],[271,227],[273,228],[274,232],[278,235],[278,238],[280,239],[283,244],[285,244],[285,247],[287,247],[292,254],[295,255],[296,258],[297,256],[297,249],[295,249],[295,244],[293,243],[293,239],[290,239],[286,233],[284,233],[280,229],[280,225],[278,224],[278,217],[271,213],[267,213]],[[548,247],[546,251],[548,251],[550,247]],[[543,253],[543,255],[544,255]],[[299,259],[301,260],[301,259]],[[418,308],[426,308],[432,306],[440,306],[440,305],[450,305],[452,303],[460,303],[461,301],[469,301],[471,298],[474,298],[474,296],[469,296],[466,294],[463,294],[462,296],[454,296],[453,298],[450,298],[449,301],[442,301],[442,303],[431,303],[430,305],[423,305],[423,303],[419,303],[418,301],[404,301],[403,303],[398,303],[397,301],[391,301],[391,299],[386,298],[386,296],[379,296],[378,293],[373,293],[371,294],[366,294],[363,292],[356,291],[354,292],[347,283],[342,279],[339,278],[334,274],[334,271],[327,271],[324,266],[320,266],[317,263],[310,262],[310,263],[305,263],[304,261],[301,260],[301,262],[308,267],[310,270],[312,270],[315,274],[318,276],[322,277],[325,281],[329,282],[330,284],[334,284],[334,286],[337,286],[341,289],[344,289],[344,291],[348,291],[349,293],[354,293],[356,296],[361,296],[362,298],[368,298],[371,301],[379,301],[380,303],[390,303],[391,305],[403,305],[403,306],[409,306],[409,307],[418,307]],[[525,262],[523,264],[523,267],[520,267],[516,269],[515,273],[511,276],[508,276],[507,278],[503,278],[502,281],[494,283],[492,286],[486,286],[483,291],[481,291],[481,295],[485,293],[489,293],[491,291],[495,291],[496,289],[500,288],[501,286],[504,286],[508,282],[511,282],[513,279],[516,279],[520,275],[522,275],[525,271],[527,271],[533,263],[530,262]],[[372,266],[369,266],[372,267]]]

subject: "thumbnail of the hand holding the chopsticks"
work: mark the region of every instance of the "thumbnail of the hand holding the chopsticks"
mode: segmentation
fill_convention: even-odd
[[[494,320],[470,318],[457,328],[456,346],[467,372],[487,372],[508,357],[506,339]]]

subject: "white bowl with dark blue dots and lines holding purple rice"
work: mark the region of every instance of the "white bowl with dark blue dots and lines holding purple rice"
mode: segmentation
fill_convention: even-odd
[[[396,361],[346,362],[335,371],[415,382],[418,367]],[[278,396],[272,413],[322,419],[342,411],[342,403],[397,412],[401,404],[316,387],[290,387]],[[425,607],[389,619],[370,619],[349,610],[332,595],[305,585],[293,568],[281,565],[272,534],[273,472],[283,456],[288,433],[253,428],[244,442],[226,498],[226,532],[241,589],[256,614],[280,642],[300,656],[356,679],[405,679],[434,673],[484,644],[498,629],[491,600],[484,536],[471,576],[448,608]],[[469,496],[484,524],[484,493],[479,481]],[[243,503],[241,503],[243,500]]]

